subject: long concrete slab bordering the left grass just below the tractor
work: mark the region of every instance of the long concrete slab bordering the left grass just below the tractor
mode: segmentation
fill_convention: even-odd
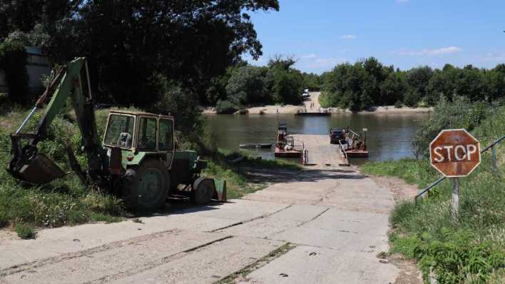
[[[141,218],[113,224],[86,224],[40,230],[35,240],[8,240],[0,245],[0,270],[40,258],[96,248],[100,245],[126,240],[176,228],[213,230],[235,223],[234,220],[200,218],[198,216],[166,215]]]

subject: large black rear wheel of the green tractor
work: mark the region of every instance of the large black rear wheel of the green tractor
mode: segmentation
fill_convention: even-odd
[[[170,187],[168,171],[155,159],[126,172],[126,200],[136,211],[155,211],[165,205]]]

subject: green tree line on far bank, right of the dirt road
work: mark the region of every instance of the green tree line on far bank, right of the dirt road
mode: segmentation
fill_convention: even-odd
[[[433,106],[441,97],[495,101],[505,96],[505,64],[491,70],[447,64],[443,69],[421,66],[399,71],[370,57],[339,64],[321,77],[321,105],[352,111],[384,105]]]

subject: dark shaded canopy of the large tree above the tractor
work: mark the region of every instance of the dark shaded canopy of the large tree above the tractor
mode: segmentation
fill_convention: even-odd
[[[277,0],[15,0],[0,4],[0,41],[41,46],[58,63],[86,56],[99,101],[148,106],[162,74],[205,103],[211,79],[261,44],[248,12]]]

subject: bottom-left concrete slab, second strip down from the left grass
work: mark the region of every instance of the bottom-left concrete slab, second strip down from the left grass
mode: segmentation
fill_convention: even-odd
[[[216,233],[170,230],[143,235],[92,250],[60,255],[24,265],[6,275],[7,283],[88,283],[106,282],[113,275],[142,271],[164,264],[185,250],[223,239]],[[15,272],[16,269],[4,273]]]

